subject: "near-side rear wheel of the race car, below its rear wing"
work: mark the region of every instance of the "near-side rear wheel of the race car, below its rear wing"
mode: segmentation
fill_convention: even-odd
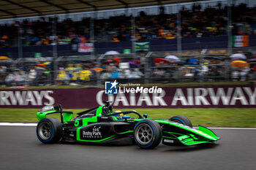
[[[61,123],[56,118],[45,118],[37,124],[37,138],[45,144],[56,143],[61,139]]]

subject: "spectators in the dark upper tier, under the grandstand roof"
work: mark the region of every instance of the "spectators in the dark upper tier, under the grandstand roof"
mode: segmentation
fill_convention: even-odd
[[[147,15],[140,12],[135,18],[135,38],[174,39],[176,38],[176,14],[167,14],[160,7],[159,15]],[[232,23],[243,23],[244,29],[232,26],[234,34],[256,34],[256,7],[246,4],[232,6]],[[53,20],[56,20],[56,36],[53,36]],[[108,19],[94,20],[96,41],[129,41],[132,36],[131,16],[114,16]],[[12,25],[1,24],[0,47],[18,45],[18,32],[22,35],[23,46],[53,45],[88,42],[90,39],[90,18],[80,21],[70,19],[59,21],[58,18],[42,17],[37,21],[15,21]],[[227,6],[221,3],[202,9],[194,4],[191,9],[181,8],[181,36],[202,37],[221,36],[227,34]]]

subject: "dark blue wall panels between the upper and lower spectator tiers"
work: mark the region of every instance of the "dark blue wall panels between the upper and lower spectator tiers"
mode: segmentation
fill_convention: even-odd
[[[227,36],[212,36],[202,38],[181,39],[182,50],[227,48]],[[249,36],[249,46],[256,46],[256,35]],[[132,42],[95,42],[96,54],[103,54],[109,50],[116,50],[123,53],[124,49],[131,49]],[[177,50],[177,39],[158,39],[150,41],[151,51]],[[75,53],[70,50],[70,45],[58,45],[59,56],[68,55],[89,55],[90,53]],[[42,57],[53,55],[53,46],[23,47],[23,58],[34,57],[34,53],[42,53]],[[7,55],[11,58],[18,58],[18,47],[0,48],[0,55]]]

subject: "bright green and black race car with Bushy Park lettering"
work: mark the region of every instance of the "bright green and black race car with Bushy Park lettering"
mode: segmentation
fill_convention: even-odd
[[[59,113],[61,122],[46,115]],[[131,118],[132,116],[132,118]],[[132,144],[151,149],[159,142],[166,145],[191,146],[214,144],[219,137],[208,128],[199,125],[192,128],[187,117],[178,115],[170,120],[148,119],[135,110],[113,112],[110,102],[78,113],[72,119],[72,112],[64,111],[60,104],[43,107],[37,112],[37,138],[45,144],[59,141],[104,144]]]

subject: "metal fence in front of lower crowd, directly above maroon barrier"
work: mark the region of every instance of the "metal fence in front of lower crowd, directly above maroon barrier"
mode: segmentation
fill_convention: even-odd
[[[130,65],[130,64],[129,64]],[[120,66],[120,65],[119,65]],[[79,67],[79,65],[78,65]],[[181,63],[121,66],[99,64],[91,69],[59,68],[57,72],[31,67],[28,70],[14,69],[13,72],[0,72],[1,86],[50,86],[86,85],[102,86],[105,81],[117,80],[119,83],[176,83],[176,82],[222,82],[256,80],[255,63],[220,63],[187,65]],[[56,73],[56,78],[55,77]]]

